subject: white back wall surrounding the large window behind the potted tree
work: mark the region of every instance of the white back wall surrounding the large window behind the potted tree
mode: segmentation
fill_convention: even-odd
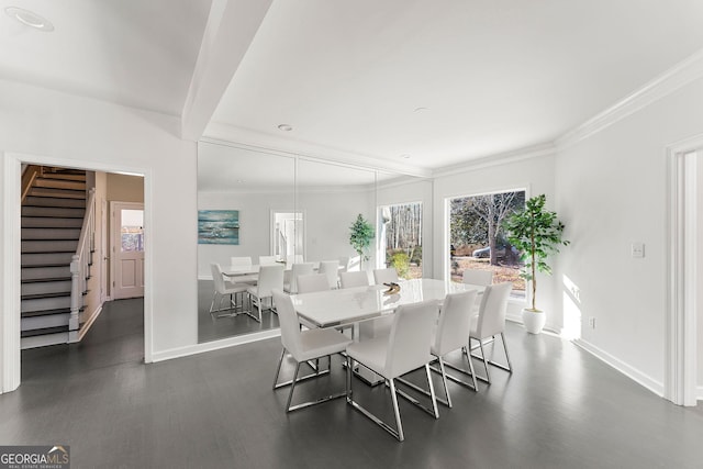
[[[434,181],[434,243],[433,243],[433,269],[435,278],[448,278],[448,226],[446,226],[445,204],[447,199],[473,196],[486,192],[496,192],[512,189],[525,189],[527,197],[546,194],[547,208],[555,208],[554,185],[554,153],[546,150],[540,156],[512,155],[505,158],[504,164],[477,167],[466,170],[450,171],[445,176],[438,176]],[[561,214],[559,214],[561,215]],[[561,216],[560,216],[561,217]],[[569,239],[572,227],[568,220],[563,220],[567,228],[565,237]],[[556,259],[551,261],[556,266]],[[546,327],[559,331],[561,317],[558,304],[555,302],[554,279],[538,273],[537,277],[537,305],[547,314]],[[522,301],[511,301],[509,315],[516,320],[518,312],[524,308]]]

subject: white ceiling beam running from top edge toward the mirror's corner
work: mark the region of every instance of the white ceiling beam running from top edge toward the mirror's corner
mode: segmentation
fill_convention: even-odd
[[[181,113],[181,138],[197,141],[210,122],[272,0],[213,0]]]

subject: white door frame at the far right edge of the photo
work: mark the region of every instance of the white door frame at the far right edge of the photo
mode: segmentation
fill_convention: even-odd
[[[667,147],[667,313],[663,397],[678,405],[696,405],[698,392],[698,208],[696,166],[703,135]]]

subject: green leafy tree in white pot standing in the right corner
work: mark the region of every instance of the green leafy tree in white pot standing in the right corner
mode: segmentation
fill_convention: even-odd
[[[545,210],[546,196],[536,196],[525,208],[513,213],[503,224],[507,239],[521,253],[524,263],[521,277],[532,284],[532,308],[523,310],[523,324],[531,334],[539,334],[545,325],[544,311],[537,309],[537,272],[551,275],[547,257],[567,246],[562,239],[563,224],[555,212]]]

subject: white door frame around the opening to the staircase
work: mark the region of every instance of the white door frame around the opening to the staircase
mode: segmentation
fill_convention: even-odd
[[[21,382],[20,353],[20,217],[21,217],[21,178],[22,164],[44,166],[60,166],[81,168],[89,171],[123,172],[144,177],[144,225],[152,226],[153,172],[147,167],[127,167],[107,165],[104,161],[75,160],[69,158],[33,155],[15,152],[0,152],[3,155],[3,214],[2,214],[2,249],[3,249],[3,281],[0,286],[2,293],[2,311],[0,311],[0,393],[14,391]],[[144,362],[152,362],[153,349],[153,298],[152,292],[152,252],[150,236],[144,241]]]

